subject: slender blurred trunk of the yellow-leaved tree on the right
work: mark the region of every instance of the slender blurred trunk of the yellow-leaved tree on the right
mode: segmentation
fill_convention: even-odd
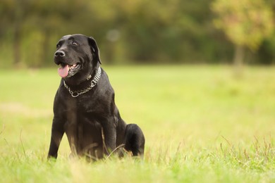
[[[245,49],[243,45],[235,45],[235,55],[233,60],[234,72],[236,77],[240,77],[243,73],[243,59],[245,57]]]

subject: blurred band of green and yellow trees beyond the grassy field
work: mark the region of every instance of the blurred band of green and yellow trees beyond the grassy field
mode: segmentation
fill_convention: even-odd
[[[275,63],[274,0],[1,0],[0,67],[53,65],[56,42],[97,40],[104,64]]]

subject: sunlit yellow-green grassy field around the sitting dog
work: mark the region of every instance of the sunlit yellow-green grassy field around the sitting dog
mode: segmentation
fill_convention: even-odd
[[[145,159],[47,161],[56,69],[0,70],[0,182],[275,182],[275,68],[103,68]]]

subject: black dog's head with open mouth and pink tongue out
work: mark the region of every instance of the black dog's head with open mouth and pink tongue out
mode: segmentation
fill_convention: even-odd
[[[82,34],[66,35],[56,44],[54,62],[65,80],[81,82],[101,63],[97,42]]]

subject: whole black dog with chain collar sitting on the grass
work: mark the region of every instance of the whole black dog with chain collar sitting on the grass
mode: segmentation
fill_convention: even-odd
[[[48,158],[56,158],[64,132],[73,155],[103,158],[123,146],[143,156],[145,137],[138,125],[126,125],[114,102],[114,89],[102,68],[92,37],[73,34],[56,45],[54,62],[62,77],[54,99]]]

